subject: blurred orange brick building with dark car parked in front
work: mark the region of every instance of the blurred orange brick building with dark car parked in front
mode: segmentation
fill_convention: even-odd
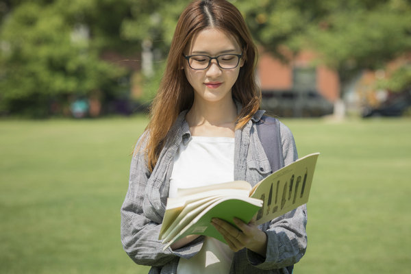
[[[336,72],[314,65],[315,53],[302,51],[289,62],[260,50],[257,75],[262,108],[278,116],[323,116],[340,98]]]

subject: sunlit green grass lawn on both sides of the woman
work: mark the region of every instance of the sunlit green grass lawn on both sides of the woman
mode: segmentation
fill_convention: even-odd
[[[144,117],[0,121],[0,273],[147,273],[119,210]],[[295,273],[408,273],[411,120],[284,120],[321,152]]]

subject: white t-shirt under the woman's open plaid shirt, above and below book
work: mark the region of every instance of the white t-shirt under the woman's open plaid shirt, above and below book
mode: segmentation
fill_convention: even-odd
[[[181,142],[174,157],[169,197],[177,188],[192,188],[234,180],[234,138],[191,136]],[[201,251],[189,260],[180,258],[177,273],[229,273],[234,252],[206,237]]]

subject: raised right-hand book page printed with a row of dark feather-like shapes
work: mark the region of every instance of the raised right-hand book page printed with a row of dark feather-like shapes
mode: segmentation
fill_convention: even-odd
[[[284,166],[251,190],[251,197],[263,201],[257,225],[307,203],[318,156],[319,153],[312,153]]]

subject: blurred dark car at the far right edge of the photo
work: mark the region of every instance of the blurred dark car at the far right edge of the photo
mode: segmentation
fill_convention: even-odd
[[[411,88],[403,92],[391,92],[378,108],[364,108],[362,117],[402,116],[411,112]]]

